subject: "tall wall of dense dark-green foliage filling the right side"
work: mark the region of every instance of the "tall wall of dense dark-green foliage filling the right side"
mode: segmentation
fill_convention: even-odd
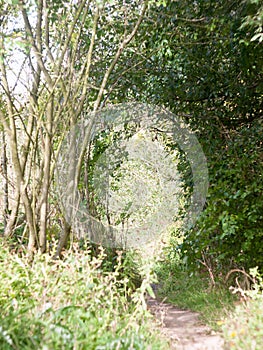
[[[206,209],[182,254],[193,268],[262,268],[260,2],[171,1],[156,16],[138,89],[196,130],[210,174]]]

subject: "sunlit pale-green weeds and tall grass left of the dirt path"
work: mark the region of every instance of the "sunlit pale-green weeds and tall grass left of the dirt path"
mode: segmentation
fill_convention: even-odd
[[[112,271],[101,250],[66,253],[60,261],[35,257],[31,266],[0,243],[0,348],[165,349],[150,329],[145,291],[123,273],[121,253]]]

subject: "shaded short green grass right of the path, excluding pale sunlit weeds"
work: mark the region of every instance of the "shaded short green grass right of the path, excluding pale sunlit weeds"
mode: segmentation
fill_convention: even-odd
[[[220,283],[212,287],[209,277],[184,269],[180,262],[165,262],[158,267],[159,297],[182,309],[200,313],[200,319],[215,330],[233,309],[235,297]]]

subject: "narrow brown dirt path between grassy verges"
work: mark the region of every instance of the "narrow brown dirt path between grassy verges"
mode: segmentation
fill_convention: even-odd
[[[169,339],[171,349],[223,349],[223,339],[199,321],[198,313],[153,298],[148,299],[147,305],[155,315],[161,332]]]

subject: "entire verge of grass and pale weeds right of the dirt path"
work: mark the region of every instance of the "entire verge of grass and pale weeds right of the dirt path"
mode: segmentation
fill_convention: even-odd
[[[254,281],[249,290],[222,281],[212,286],[208,273],[194,274],[179,259],[163,261],[156,270],[159,298],[198,312],[202,322],[221,333],[226,350],[262,349],[263,279],[258,268],[249,271]]]

